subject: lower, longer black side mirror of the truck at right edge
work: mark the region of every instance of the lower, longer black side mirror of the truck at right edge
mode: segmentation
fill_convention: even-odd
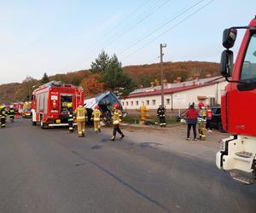
[[[232,76],[233,71],[233,52],[225,49],[221,54],[220,72],[225,78]]]

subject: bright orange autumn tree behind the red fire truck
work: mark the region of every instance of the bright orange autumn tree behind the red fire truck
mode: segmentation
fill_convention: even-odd
[[[99,79],[99,74],[92,74],[89,78],[84,78],[81,86],[84,87],[85,96],[96,95],[105,90],[105,83],[100,82]]]

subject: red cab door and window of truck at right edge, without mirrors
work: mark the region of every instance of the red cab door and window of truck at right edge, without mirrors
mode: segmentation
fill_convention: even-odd
[[[256,26],[253,20],[250,26]],[[247,30],[234,66],[233,80],[223,99],[224,123],[230,133],[256,135],[256,31]]]

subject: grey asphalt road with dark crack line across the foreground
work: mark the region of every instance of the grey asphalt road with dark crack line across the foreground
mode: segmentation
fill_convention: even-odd
[[[110,130],[79,138],[24,119],[8,124],[0,212],[256,212],[256,186],[214,163],[109,138]]]

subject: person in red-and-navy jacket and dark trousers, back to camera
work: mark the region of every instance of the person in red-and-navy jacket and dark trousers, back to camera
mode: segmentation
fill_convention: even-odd
[[[194,107],[194,104],[190,105],[189,110],[187,112],[187,124],[188,124],[188,130],[187,130],[187,140],[189,140],[190,130],[191,127],[193,128],[194,133],[194,141],[196,141],[196,123],[197,123],[197,116],[198,112]]]

